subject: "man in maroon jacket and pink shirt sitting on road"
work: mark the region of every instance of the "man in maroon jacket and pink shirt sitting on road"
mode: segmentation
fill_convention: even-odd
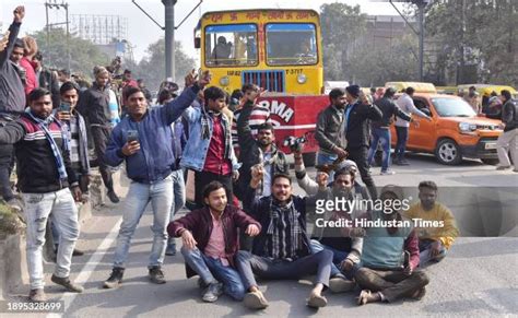
[[[236,301],[245,297],[245,286],[234,268],[239,250],[238,228],[256,236],[261,225],[238,208],[227,204],[225,187],[212,181],[203,190],[205,207],[169,223],[169,236],[180,237],[187,276],[201,278],[203,302],[213,303],[222,293]]]

